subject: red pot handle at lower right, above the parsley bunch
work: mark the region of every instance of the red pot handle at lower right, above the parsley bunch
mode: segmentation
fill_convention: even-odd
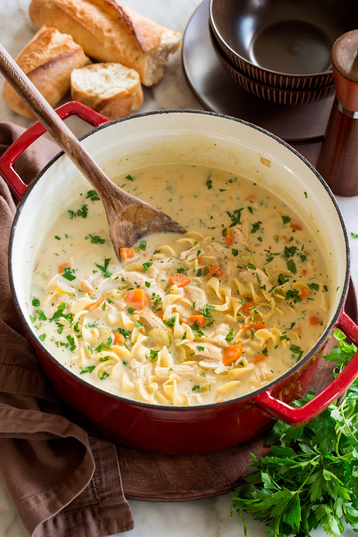
[[[358,326],[344,311],[342,311],[335,326],[338,326],[358,346]],[[253,403],[261,410],[265,410],[271,414],[271,416],[281,419],[282,422],[299,427],[325,410],[332,401],[335,401],[352,384],[357,375],[358,352],[331,384],[301,408],[290,407],[287,403],[273,397],[271,395],[272,388],[255,395],[253,397]]]

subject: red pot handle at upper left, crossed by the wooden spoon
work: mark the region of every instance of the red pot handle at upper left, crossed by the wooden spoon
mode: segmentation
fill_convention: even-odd
[[[70,115],[78,115],[79,118],[83,119],[93,127],[98,127],[109,121],[104,115],[94,112],[91,108],[88,108],[77,101],[70,101],[69,103],[59,106],[55,112],[61,119],[67,119]],[[41,125],[40,121],[36,121],[30,128],[21,134],[13,144],[11,144],[9,149],[7,149],[0,158],[0,176],[19,200],[25,194],[28,185],[20,179],[18,173],[13,169],[13,164],[16,159],[24,153],[25,149],[27,149],[28,146],[31,146],[32,142],[37,140],[43,133],[46,133],[45,127]]]

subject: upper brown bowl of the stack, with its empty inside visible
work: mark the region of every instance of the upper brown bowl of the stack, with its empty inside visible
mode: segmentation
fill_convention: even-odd
[[[331,49],[353,30],[350,0],[210,0],[215,39],[231,65],[261,84],[311,90],[333,84]]]

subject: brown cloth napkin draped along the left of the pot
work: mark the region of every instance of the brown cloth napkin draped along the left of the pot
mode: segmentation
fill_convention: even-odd
[[[0,155],[24,129],[0,122]],[[15,168],[27,184],[58,147],[41,139]],[[0,178],[0,475],[32,537],[106,537],[133,529],[113,442],[74,423],[43,376],[13,306],[8,246],[16,207]],[[71,420],[67,419],[71,416]]]

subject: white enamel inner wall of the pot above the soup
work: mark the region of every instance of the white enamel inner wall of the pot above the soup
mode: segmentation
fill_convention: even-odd
[[[82,143],[109,177],[158,164],[213,166],[249,178],[284,200],[316,237],[331,280],[330,321],[303,360],[317,352],[344,305],[349,250],[347,232],[333,194],[301,155],[259,127],[199,111],[153,112],[114,121],[84,136]],[[30,333],[34,332],[29,318],[30,280],[36,253],[54,221],[84,188],[90,190],[89,183],[62,155],[46,166],[19,205],[10,242],[10,280],[21,320]],[[50,355],[35,335],[34,338],[43,352]],[[75,376],[72,372],[68,374]],[[280,379],[282,376],[265,389]]]

